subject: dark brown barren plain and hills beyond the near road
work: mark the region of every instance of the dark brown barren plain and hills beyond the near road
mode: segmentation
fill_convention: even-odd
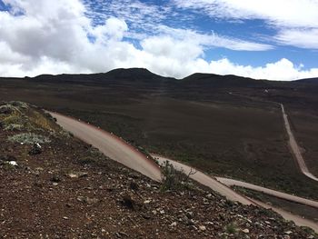
[[[318,198],[318,185],[293,160],[280,107],[273,104],[285,106],[304,158],[318,174],[313,85],[206,74],[176,81],[145,69],[0,82],[1,100],[72,115],[208,174]]]

